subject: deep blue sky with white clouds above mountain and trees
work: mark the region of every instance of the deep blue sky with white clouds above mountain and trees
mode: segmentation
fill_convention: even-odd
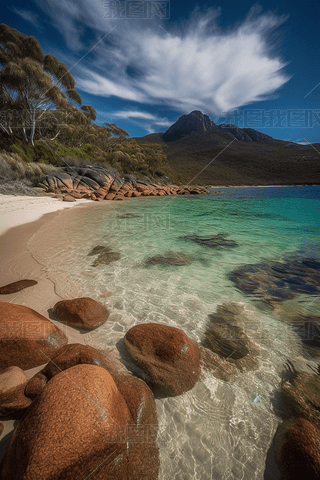
[[[1,3],[1,22],[67,65],[98,124],[144,136],[201,110],[218,124],[320,142],[318,0],[111,4],[13,0]]]

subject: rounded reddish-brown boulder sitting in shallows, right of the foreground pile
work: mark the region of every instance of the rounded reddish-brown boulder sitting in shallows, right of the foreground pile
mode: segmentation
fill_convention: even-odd
[[[136,325],[124,345],[152,383],[168,395],[190,390],[200,375],[200,348],[182,330],[157,323]]]

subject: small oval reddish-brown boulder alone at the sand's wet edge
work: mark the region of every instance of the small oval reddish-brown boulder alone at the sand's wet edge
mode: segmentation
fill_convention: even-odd
[[[100,327],[109,317],[107,308],[90,297],[61,300],[53,307],[53,313],[61,322],[86,330]]]

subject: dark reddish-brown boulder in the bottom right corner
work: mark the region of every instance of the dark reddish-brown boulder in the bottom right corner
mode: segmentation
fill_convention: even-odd
[[[320,430],[304,418],[290,418],[274,437],[275,459],[281,480],[319,480]]]

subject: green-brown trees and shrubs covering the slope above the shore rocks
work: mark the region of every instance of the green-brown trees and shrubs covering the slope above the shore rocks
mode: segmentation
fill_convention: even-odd
[[[36,184],[52,167],[99,163],[119,175],[181,182],[159,144],[140,146],[116,124],[95,120],[67,66],[35,37],[1,24],[0,176]]]

